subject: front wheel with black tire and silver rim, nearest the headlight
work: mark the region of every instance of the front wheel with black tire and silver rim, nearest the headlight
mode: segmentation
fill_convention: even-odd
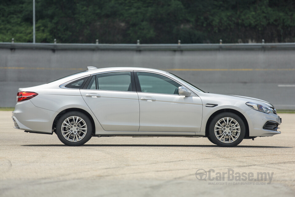
[[[227,122],[229,125],[227,125]],[[234,113],[224,112],[218,114],[212,119],[209,125],[210,139],[214,144],[220,147],[237,146],[242,142],[245,134],[246,128],[243,120]]]

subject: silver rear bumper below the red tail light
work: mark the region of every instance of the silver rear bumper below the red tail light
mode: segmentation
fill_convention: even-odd
[[[58,112],[36,107],[28,100],[16,104],[12,119],[16,129],[51,134],[57,114]]]

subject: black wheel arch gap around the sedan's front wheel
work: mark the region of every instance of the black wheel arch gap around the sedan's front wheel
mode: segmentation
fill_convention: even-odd
[[[243,120],[243,122],[244,122],[244,124],[245,124],[245,128],[246,128],[246,134],[245,134],[244,139],[249,139],[249,125],[248,125],[248,121],[247,121],[246,117],[245,117],[241,112],[239,112],[239,111],[237,111],[237,110],[234,110],[234,109],[230,109],[230,108],[220,109],[220,110],[218,110],[218,111],[215,111],[212,115],[210,115],[209,119],[208,119],[207,122],[206,122],[205,136],[206,136],[206,137],[209,136],[209,125],[210,125],[212,119],[213,119],[216,115],[218,115],[218,114],[220,114],[220,113],[223,113],[223,112],[231,112],[231,113],[233,113],[233,114],[238,115],[238,116]]]

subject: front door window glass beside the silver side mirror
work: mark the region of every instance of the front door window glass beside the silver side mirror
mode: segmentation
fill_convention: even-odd
[[[137,72],[137,76],[142,92],[178,94],[178,87],[181,86],[160,74]]]

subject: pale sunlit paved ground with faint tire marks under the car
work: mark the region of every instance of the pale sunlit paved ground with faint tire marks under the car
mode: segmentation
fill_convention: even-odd
[[[295,114],[279,115],[280,135],[232,148],[181,137],[92,137],[67,147],[55,134],[14,129],[11,111],[0,111],[0,196],[294,196]],[[266,180],[252,180],[258,172]]]

